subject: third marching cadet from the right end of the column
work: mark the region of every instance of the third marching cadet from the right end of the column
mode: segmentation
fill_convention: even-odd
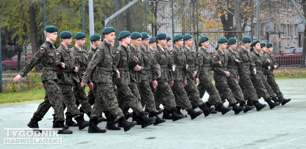
[[[257,71],[256,74],[251,74],[251,81],[256,89],[257,98],[263,97],[263,99],[268,103],[270,109],[278,106],[280,103],[272,102],[270,95],[267,92],[267,89],[263,85],[263,81],[261,79],[261,74],[263,73],[263,68],[268,67],[270,60],[265,59],[263,55],[259,52],[260,50],[260,43],[258,40],[255,40],[251,43],[251,58],[254,64],[256,65]]]

